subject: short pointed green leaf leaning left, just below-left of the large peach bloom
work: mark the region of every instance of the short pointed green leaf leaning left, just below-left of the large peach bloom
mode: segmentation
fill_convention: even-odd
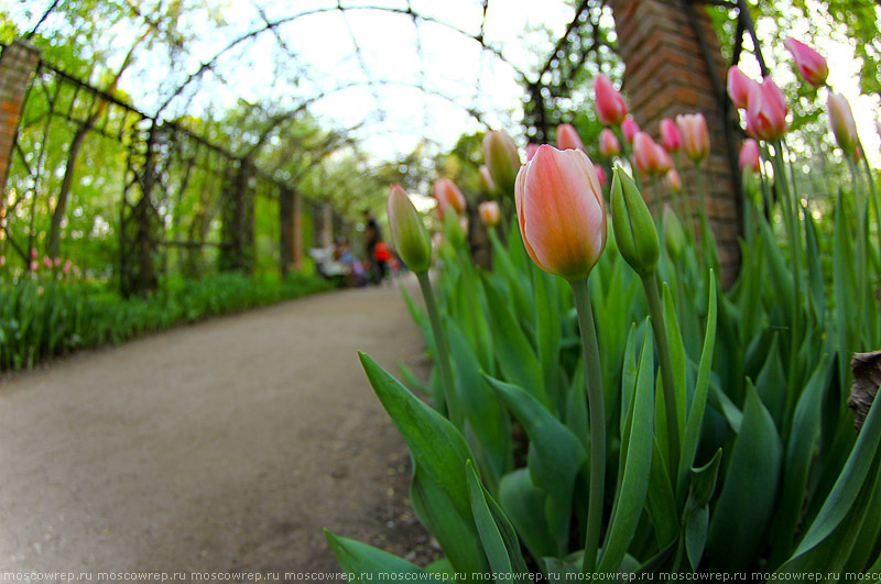
[[[485,279],[483,284],[489,302],[492,337],[496,339],[496,359],[499,361],[502,374],[511,383],[525,388],[542,405],[553,411],[555,408],[545,393],[544,375],[539,365],[539,359],[523,333],[523,329],[520,328],[508,304],[489,279]]]

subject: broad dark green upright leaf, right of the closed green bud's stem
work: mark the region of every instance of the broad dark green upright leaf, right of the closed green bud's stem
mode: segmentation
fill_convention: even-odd
[[[782,458],[774,420],[748,382],[743,423],[709,524],[713,570],[737,572],[755,557],[777,497]]]

